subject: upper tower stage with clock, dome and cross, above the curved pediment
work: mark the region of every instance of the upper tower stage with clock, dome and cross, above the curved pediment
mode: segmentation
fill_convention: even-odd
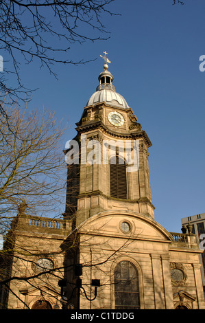
[[[73,170],[69,169],[65,212],[69,217],[77,210],[76,225],[104,210],[135,211],[154,219],[148,165],[152,143],[128,103],[115,90],[106,54],[99,85],[76,124],[75,141],[80,150],[75,153],[80,158],[75,158],[78,166],[73,167],[74,185]],[[67,160],[72,153],[73,149],[67,151]],[[71,193],[75,195],[72,201]]]

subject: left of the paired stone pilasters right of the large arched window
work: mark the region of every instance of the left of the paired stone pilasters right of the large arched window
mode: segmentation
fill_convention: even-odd
[[[165,309],[165,298],[162,288],[162,266],[160,254],[150,254],[152,259],[152,275],[154,285],[155,309]]]

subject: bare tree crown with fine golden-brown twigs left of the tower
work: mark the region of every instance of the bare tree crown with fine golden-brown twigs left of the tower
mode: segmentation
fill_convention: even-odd
[[[2,106],[2,104],[1,104]],[[66,185],[62,124],[44,111],[3,106],[0,121],[0,217],[10,221],[19,205],[26,203],[35,214],[56,208],[64,199]],[[64,180],[63,180],[64,179]],[[46,211],[47,210],[47,211]],[[61,210],[62,212],[62,210]],[[2,223],[1,223],[2,224]]]

